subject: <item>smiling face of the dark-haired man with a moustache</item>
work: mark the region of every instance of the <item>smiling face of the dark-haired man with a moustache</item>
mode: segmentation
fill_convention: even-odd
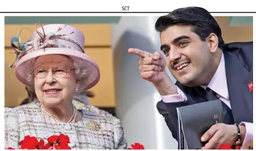
[[[187,86],[207,85],[218,67],[214,54],[218,38],[211,34],[205,42],[187,25],[173,25],[161,32],[161,50],[167,66],[179,83]]]

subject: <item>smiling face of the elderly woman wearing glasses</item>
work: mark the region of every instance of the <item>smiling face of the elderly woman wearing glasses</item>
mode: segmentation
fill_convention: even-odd
[[[42,104],[55,107],[62,102],[72,101],[79,86],[72,69],[73,61],[60,54],[40,56],[35,60],[35,92]]]

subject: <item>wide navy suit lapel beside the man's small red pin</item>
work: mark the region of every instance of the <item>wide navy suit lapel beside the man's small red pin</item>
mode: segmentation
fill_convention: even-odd
[[[252,122],[252,92],[248,89],[248,83],[253,80],[252,70],[249,72],[242,66],[237,54],[227,51],[223,53],[234,122]]]

